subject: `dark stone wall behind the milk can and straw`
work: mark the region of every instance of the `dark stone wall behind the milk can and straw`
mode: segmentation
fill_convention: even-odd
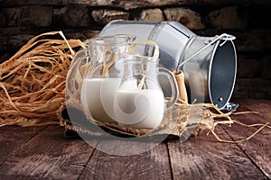
[[[235,98],[271,99],[270,0],[0,0],[0,62],[33,36],[86,40],[115,19],[177,21],[202,36],[237,37]]]

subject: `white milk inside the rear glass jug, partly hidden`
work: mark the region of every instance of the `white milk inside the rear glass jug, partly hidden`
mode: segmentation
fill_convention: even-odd
[[[86,112],[98,121],[114,121],[114,97],[120,78],[84,79],[81,102]]]

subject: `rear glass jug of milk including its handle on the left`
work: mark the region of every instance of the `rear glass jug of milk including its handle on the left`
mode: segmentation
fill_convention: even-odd
[[[104,103],[110,102],[110,92],[115,92],[120,81],[114,67],[115,60],[126,52],[133,40],[133,35],[90,39],[88,47],[80,49],[70,65],[66,84],[67,105],[82,109],[88,118],[113,121],[107,116]]]

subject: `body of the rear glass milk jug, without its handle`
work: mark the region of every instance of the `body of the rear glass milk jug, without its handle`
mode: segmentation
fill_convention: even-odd
[[[114,64],[125,53],[133,35],[116,35],[89,40],[88,63],[80,67],[82,74],[80,102],[85,114],[98,121],[114,121],[113,99],[120,83]]]

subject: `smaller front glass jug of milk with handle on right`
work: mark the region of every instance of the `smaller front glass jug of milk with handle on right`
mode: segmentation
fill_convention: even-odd
[[[159,58],[124,54],[116,62],[121,80],[114,97],[114,119],[120,125],[138,129],[154,129],[178,97],[173,74],[158,67]],[[172,97],[165,103],[158,75],[166,76]]]

